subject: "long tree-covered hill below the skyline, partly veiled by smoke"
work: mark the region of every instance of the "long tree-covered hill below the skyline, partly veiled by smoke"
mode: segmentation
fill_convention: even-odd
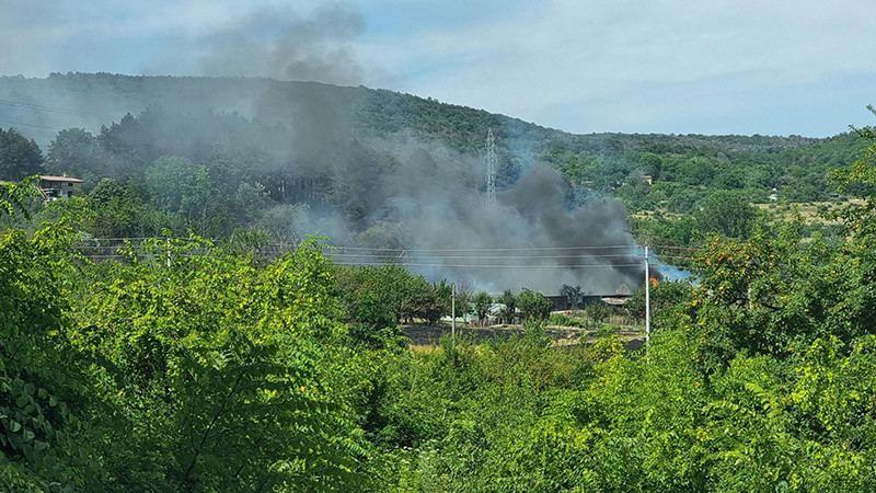
[[[505,192],[506,202],[532,220],[534,209],[519,204],[521,195],[512,190],[528,170],[544,168],[540,163],[560,172],[564,190],[552,192],[552,199],[567,208],[579,207],[588,197],[613,196],[632,213],[685,215],[701,209],[716,192],[730,192],[748,203],[823,200],[833,191],[829,170],[851,163],[864,148],[850,133],[830,138],[573,135],[364,87],[108,73],[0,78],[0,127],[14,128],[41,145],[45,163],[30,171],[71,173],[85,180],[85,192],[103,177],[134,180],[128,184],[134,188],[145,183],[138,196],[184,216],[177,228],[221,234],[256,219],[266,221],[265,211],[275,205],[331,205],[345,227],[321,225],[320,231],[334,237],[367,233],[365,238],[377,237],[380,240],[372,243],[382,246],[410,245],[411,237],[423,238],[423,231],[414,234],[397,225],[425,217],[424,207],[435,200],[424,206],[424,197],[453,197],[453,204],[441,207],[452,207],[459,217],[469,214],[473,206],[461,200],[484,193],[489,128],[496,135],[499,196]],[[165,156],[184,160],[183,165],[155,164]],[[201,195],[215,197],[197,214],[181,198],[192,202],[192,190],[162,196],[169,193],[162,180],[197,182],[192,171],[196,165],[209,177]],[[174,176],[178,170],[188,174]],[[5,173],[0,180],[18,177]],[[537,193],[546,196],[543,190]],[[214,215],[222,210],[232,219],[205,226],[216,222]],[[480,236],[479,221],[508,220],[465,222]],[[460,234],[470,233],[454,227]],[[527,241],[539,243],[548,237]],[[497,232],[485,244],[497,238],[504,236]]]

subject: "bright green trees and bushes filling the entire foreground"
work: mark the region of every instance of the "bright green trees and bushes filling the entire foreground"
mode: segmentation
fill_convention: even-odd
[[[8,228],[0,484],[873,491],[876,129],[860,134],[873,145],[837,177],[866,202],[839,237],[804,242],[792,222],[712,239],[699,287],[655,289],[652,344],[632,355],[551,347],[534,321],[407,351],[392,291],[315,240],[266,261],[193,237],[170,266],[163,242],[94,264],[70,248],[74,217]],[[25,193],[2,184],[3,214]]]

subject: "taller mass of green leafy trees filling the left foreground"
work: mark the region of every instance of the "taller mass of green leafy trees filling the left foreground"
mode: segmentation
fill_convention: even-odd
[[[146,257],[80,283],[96,266],[77,272],[61,232],[28,240],[12,230],[0,241],[5,484],[361,484],[367,451],[354,410],[331,383],[358,364],[335,363],[346,330],[313,241],[265,270],[246,257],[197,255],[210,246],[197,238],[154,241]]]

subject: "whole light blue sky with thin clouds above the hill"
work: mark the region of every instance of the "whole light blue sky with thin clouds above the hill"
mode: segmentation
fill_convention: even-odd
[[[0,0],[0,74],[385,88],[573,133],[872,125],[876,2]]]

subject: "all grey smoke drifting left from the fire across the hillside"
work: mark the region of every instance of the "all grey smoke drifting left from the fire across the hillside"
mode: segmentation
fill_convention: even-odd
[[[115,145],[134,146],[138,158],[126,164],[127,153],[115,156],[107,161],[116,163],[113,172],[136,177],[162,154],[228,170],[214,173],[217,190],[223,196],[245,192],[262,204],[254,220],[239,226],[288,239],[327,234],[333,244],[367,249],[338,251],[337,262],[382,262],[391,254],[431,280],[491,291],[548,294],[568,284],[613,294],[642,280],[635,249],[616,248],[634,244],[622,204],[581,202],[556,171],[538,163],[539,134],[510,118],[487,123],[497,134],[500,186],[497,203],[486,206],[479,154],[486,126],[473,131],[472,145],[454,147],[405,123],[419,111],[405,105],[407,96],[262,79],[106,74],[0,80],[4,91],[16,91],[9,92],[16,101],[51,95],[59,107],[93,102],[91,113],[111,111],[101,102],[111,102],[114,113],[148,107],[110,129],[106,139],[118,135]],[[77,115],[59,116],[77,126],[67,123]],[[258,191],[269,197],[256,197]]]

